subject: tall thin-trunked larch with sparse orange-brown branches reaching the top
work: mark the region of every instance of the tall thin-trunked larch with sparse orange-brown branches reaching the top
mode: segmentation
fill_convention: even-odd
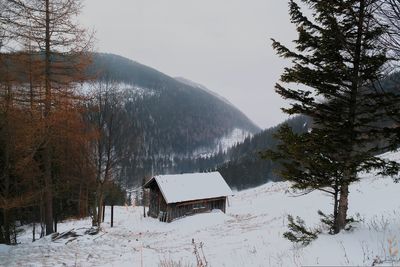
[[[74,88],[85,79],[90,38],[77,23],[81,10],[78,0],[8,0],[9,23],[15,27],[16,43],[29,42],[32,53],[39,57],[40,88],[38,106],[42,109],[43,142],[38,152],[44,188],[46,234],[53,228],[54,146],[56,145],[57,111],[77,99]],[[77,101],[77,100],[76,100]]]

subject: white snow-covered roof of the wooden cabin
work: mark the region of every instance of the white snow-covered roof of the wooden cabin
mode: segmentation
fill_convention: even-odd
[[[153,181],[157,182],[167,204],[233,195],[219,172],[160,175],[150,179],[145,187]]]

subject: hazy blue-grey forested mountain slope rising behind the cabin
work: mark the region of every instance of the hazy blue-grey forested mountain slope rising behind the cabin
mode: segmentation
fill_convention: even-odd
[[[243,133],[242,140],[260,131],[222,97],[124,57],[93,54],[89,74],[95,77],[93,86],[118,88],[134,125],[126,127],[125,135],[139,137],[122,162],[121,179],[130,185],[151,174],[182,172],[176,160],[216,153],[220,140],[234,131]]]

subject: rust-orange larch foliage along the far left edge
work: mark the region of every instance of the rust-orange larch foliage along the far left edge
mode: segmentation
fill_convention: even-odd
[[[3,55],[0,65],[0,228],[4,243],[11,241],[10,226],[17,209],[34,206],[39,191],[34,178],[40,142],[36,134],[41,127],[32,120],[37,115],[30,110],[29,91],[19,81],[26,57],[25,53]]]

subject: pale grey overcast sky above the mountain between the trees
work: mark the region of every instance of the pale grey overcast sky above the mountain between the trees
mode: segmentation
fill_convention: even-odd
[[[274,84],[296,35],[286,0],[84,0],[96,48],[203,84],[262,128],[287,118]]]

